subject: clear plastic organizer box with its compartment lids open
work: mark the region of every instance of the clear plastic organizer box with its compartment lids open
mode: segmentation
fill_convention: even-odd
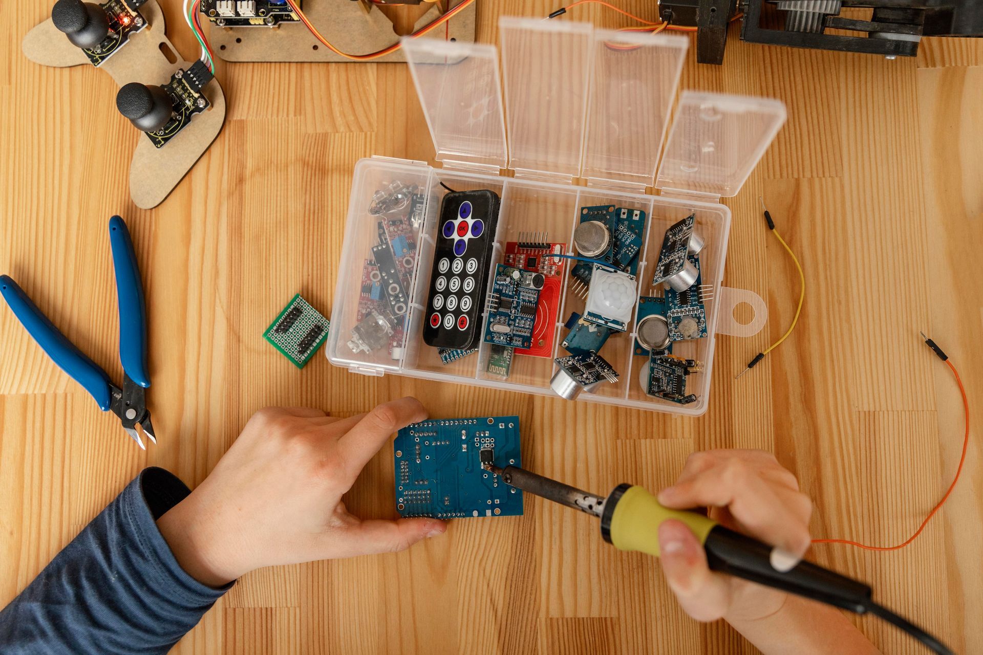
[[[327,358],[368,375],[389,372],[554,395],[549,384],[557,369],[554,358],[567,355],[560,345],[563,324],[571,312],[584,313],[583,289],[569,275],[574,260],[563,260],[561,288],[555,292],[559,310],[547,326],[551,352],[516,353],[502,375],[500,366],[490,366],[492,347],[484,341],[477,353],[447,362],[424,343],[443,196],[448,190],[491,190],[501,199],[488,262],[489,293],[507,244],[561,243],[575,254],[573,232],[581,208],[609,205],[645,212],[637,294],[661,296],[662,285],[655,289],[651,282],[665,231],[693,215],[695,232],[705,244],[699,257],[707,336],[674,342],[672,354],[702,362],[702,371],[686,378],[686,392],[696,396],[695,402],[681,405],[646,394],[640,376],[648,357],[635,353],[634,313],[625,332],[612,335],[600,351],[617,371],[617,381],[599,384],[577,400],[702,414],[708,407],[717,335],[753,335],[767,317],[757,295],[723,287],[730,210],[720,198],[736,194],[747,180],[784,123],[784,105],[683,91],[669,128],[687,38],[510,17],[501,19],[499,27],[501,78],[492,45],[403,41],[441,166],[385,157],[356,165]],[[502,169],[514,177],[502,175]],[[577,179],[586,186],[575,185]],[[647,194],[650,187],[660,194]],[[384,233],[390,228],[391,234]],[[395,314],[379,325],[373,314],[382,302],[373,248],[382,242],[392,245],[389,252],[404,290]],[[742,325],[732,310],[745,301],[755,317]],[[486,305],[482,320],[487,316]]]

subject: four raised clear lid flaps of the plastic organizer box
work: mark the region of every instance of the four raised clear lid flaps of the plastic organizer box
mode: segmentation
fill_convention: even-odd
[[[500,78],[493,45],[403,38],[445,168],[711,199],[740,191],[785,121],[778,100],[683,91],[669,126],[685,36],[514,17],[498,25]]]

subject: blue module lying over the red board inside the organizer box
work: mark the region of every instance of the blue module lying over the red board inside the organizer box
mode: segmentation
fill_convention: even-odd
[[[540,290],[546,282],[542,273],[533,273],[504,264],[495,267],[492,295],[488,301],[485,342],[529,348],[533,344],[533,325]]]

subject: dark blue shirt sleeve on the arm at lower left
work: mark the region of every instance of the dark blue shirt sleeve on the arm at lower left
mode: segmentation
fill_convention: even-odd
[[[232,584],[185,573],[156,519],[187,486],[146,468],[0,612],[0,652],[166,653]]]

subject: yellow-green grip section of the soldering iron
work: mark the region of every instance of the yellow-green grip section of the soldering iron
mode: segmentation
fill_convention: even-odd
[[[607,498],[601,531],[618,550],[659,557],[659,526],[667,519],[685,523],[701,544],[706,543],[710,530],[718,524],[694,512],[669,510],[644,487],[622,484]]]

